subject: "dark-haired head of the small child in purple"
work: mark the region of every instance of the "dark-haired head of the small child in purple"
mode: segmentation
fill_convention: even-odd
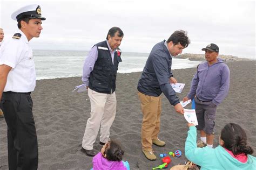
[[[106,154],[108,160],[120,161],[123,159],[124,151],[116,141],[110,140],[106,144],[104,154]]]

